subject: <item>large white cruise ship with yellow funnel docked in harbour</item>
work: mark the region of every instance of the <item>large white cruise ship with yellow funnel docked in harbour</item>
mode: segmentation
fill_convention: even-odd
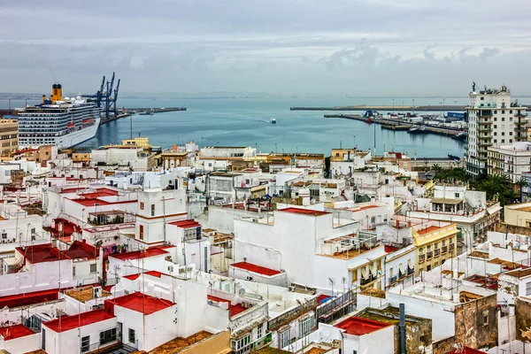
[[[61,84],[53,84],[42,104],[19,111],[19,146],[57,145],[59,149],[85,142],[96,135],[100,109],[81,96],[64,97]]]

